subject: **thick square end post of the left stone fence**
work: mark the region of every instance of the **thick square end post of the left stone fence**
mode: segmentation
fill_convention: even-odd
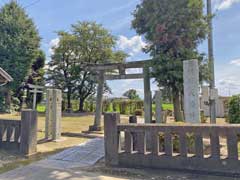
[[[37,111],[23,110],[21,115],[20,153],[33,155],[37,152]]]

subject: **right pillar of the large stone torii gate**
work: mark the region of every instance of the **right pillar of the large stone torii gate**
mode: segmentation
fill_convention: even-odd
[[[152,122],[152,92],[150,85],[150,72],[149,67],[143,68],[144,74],[144,122]]]

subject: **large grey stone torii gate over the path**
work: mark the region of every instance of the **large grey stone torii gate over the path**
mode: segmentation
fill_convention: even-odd
[[[103,88],[106,80],[120,80],[120,79],[144,79],[144,119],[145,123],[152,121],[152,93],[150,87],[150,67],[151,60],[132,61],[127,63],[109,63],[109,64],[86,64],[86,71],[97,73],[98,88],[97,88],[97,102],[94,125],[89,127],[90,131],[100,131],[101,115],[102,115],[102,101]],[[143,73],[127,74],[127,69],[142,68]]]

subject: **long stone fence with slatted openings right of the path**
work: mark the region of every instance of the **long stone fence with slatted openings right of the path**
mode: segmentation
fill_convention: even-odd
[[[240,125],[119,122],[119,114],[104,116],[106,165],[240,174]]]

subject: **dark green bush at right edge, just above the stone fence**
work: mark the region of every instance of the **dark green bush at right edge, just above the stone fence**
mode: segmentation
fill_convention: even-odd
[[[229,123],[240,123],[240,95],[232,96],[229,101]]]

